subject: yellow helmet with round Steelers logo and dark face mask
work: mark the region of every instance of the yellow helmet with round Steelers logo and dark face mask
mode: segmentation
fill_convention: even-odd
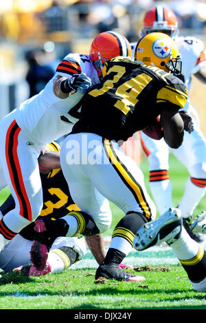
[[[181,56],[176,43],[167,34],[152,32],[143,36],[135,47],[135,60],[181,76]]]

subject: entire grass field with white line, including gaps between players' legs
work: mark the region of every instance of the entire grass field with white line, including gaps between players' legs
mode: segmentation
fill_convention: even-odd
[[[144,171],[148,187],[146,159],[142,160],[141,169]],[[187,176],[187,170],[171,156],[170,177],[174,205],[181,201]],[[1,201],[8,193],[8,189],[1,192]],[[115,205],[111,205],[111,208],[114,219],[105,239],[111,235],[113,226],[122,216]],[[196,214],[204,209],[206,210],[206,201],[202,200]],[[192,289],[185,271],[169,247],[152,247],[144,252],[136,252],[133,249],[125,263],[135,267],[133,274],[144,276],[146,280],[143,282],[106,280],[102,284],[96,284],[97,263],[89,250],[83,260],[60,274],[26,278],[14,273],[1,273],[0,309],[69,309],[69,315],[75,319],[85,315],[83,310],[87,310],[88,314],[102,309],[104,313],[98,311],[99,315],[103,313],[99,316],[99,320],[101,318],[112,320],[112,317],[109,317],[111,314],[104,317],[109,310],[113,310],[114,313],[124,310],[128,315],[138,309],[206,309],[206,294],[197,293]],[[133,315],[122,319],[135,318]],[[94,320],[92,317],[89,319]]]

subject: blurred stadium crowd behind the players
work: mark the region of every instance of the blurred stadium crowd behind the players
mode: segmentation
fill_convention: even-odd
[[[115,30],[137,41],[144,12],[159,4],[175,12],[181,35],[206,43],[205,0],[0,0],[0,118],[34,87],[40,91],[65,54],[87,54],[96,34]],[[204,95],[205,87],[194,79],[192,104],[206,135]]]

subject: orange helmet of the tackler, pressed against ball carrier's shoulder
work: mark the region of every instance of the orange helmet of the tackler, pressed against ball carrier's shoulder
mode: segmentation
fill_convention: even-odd
[[[132,57],[130,43],[118,32],[102,32],[91,44],[89,57],[101,76],[106,60],[116,56]]]

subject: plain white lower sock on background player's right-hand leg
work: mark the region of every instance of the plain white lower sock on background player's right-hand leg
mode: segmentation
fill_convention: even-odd
[[[187,218],[192,215],[196,205],[202,199],[205,194],[206,187],[194,185],[191,178],[187,179],[185,184],[185,193],[179,204],[179,209],[182,212],[183,218]]]

